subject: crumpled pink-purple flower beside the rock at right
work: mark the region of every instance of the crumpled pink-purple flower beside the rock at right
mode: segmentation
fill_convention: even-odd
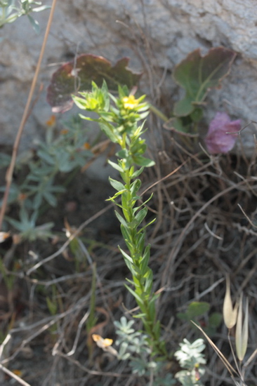
[[[237,131],[241,128],[241,121],[230,121],[225,112],[217,112],[211,121],[209,131],[204,138],[210,154],[228,153],[237,140]]]

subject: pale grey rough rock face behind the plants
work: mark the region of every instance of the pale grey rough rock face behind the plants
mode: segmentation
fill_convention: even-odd
[[[48,14],[34,13],[39,36],[25,17],[0,29],[0,145],[13,144]],[[209,95],[206,122],[216,111],[228,112],[243,124],[257,121],[256,0],[59,0],[39,77],[44,92],[29,117],[21,148],[41,138],[51,116],[46,102],[51,74],[74,55],[94,53],[113,63],[129,56],[131,68],[145,70],[143,91],[167,112],[180,94],[171,79],[174,65],[195,48],[204,53],[215,46],[232,48],[238,55],[223,88]],[[251,124],[242,133],[246,152],[253,149],[255,132]]]

